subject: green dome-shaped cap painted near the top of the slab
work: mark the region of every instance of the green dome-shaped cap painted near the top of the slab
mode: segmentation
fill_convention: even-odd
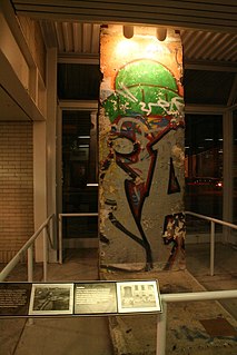
[[[102,106],[112,122],[125,116],[167,115],[170,105],[177,110],[171,103],[174,99],[182,101],[172,73],[155,60],[140,59],[129,62],[118,71],[115,93]]]

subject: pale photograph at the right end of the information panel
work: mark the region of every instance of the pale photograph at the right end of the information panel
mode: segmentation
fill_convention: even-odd
[[[161,312],[157,280],[117,283],[118,313]]]

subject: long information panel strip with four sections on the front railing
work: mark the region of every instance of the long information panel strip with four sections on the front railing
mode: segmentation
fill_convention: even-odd
[[[0,283],[0,317],[158,312],[157,280]]]

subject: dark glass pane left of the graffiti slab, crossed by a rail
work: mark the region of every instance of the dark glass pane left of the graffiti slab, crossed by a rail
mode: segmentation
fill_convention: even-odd
[[[61,110],[62,249],[98,245],[97,111]]]

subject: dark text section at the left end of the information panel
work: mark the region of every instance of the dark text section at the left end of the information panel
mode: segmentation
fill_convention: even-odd
[[[0,283],[0,316],[26,316],[30,303],[31,284]]]

